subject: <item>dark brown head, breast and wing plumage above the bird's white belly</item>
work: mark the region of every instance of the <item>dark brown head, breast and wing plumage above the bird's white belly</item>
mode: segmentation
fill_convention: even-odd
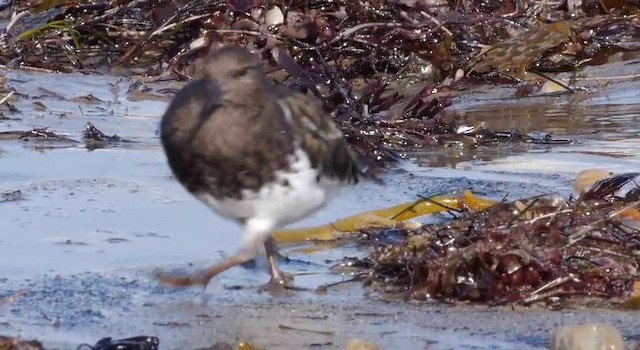
[[[228,61],[234,57],[243,61]],[[297,144],[318,179],[358,182],[362,170],[319,103],[272,84],[246,57],[214,56],[209,64],[222,60],[225,71],[187,84],[169,104],[160,130],[176,178],[194,194],[241,199],[243,189],[258,191],[290,169]]]

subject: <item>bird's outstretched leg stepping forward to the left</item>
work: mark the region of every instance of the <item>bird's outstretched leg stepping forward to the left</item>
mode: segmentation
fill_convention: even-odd
[[[212,278],[216,275],[242,263],[245,263],[255,257],[260,240],[254,239],[246,244],[235,255],[219,262],[216,265],[210,266],[198,273],[188,275],[178,275],[175,273],[159,273],[156,275],[158,281],[162,284],[174,286],[174,287],[186,287],[193,285],[206,286]]]

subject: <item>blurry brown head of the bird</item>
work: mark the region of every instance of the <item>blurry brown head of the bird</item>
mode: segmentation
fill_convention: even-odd
[[[260,57],[246,48],[233,46],[209,55],[205,77],[214,80],[223,93],[241,96],[262,88],[265,80]]]

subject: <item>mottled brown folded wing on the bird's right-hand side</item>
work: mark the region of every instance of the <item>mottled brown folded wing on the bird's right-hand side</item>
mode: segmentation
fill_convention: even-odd
[[[318,101],[285,87],[279,86],[276,89],[276,101],[283,112],[283,118],[302,135],[298,141],[309,155],[314,168],[319,168],[324,176],[346,183],[357,183],[361,176],[376,179],[358,163],[342,130],[322,110]]]

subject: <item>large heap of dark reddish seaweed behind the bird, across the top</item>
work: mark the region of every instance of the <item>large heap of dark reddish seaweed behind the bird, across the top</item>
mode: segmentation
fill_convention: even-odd
[[[571,142],[466,126],[453,101],[469,87],[519,84],[526,72],[553,81],[542,73],[640,48],[633,3],[592,2],[18,1],[6,10],[0,64],[191,80],[210,51],[247,46],[270,77],[316,96],[361,156],[387,163],[452,142]],[[399,92],[403,84],[417,92]],[[148,95],[143,83],[132,89]]]

